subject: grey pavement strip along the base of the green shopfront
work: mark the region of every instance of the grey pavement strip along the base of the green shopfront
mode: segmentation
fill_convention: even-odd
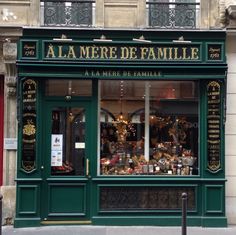
[[[13,228],[3,226],[2,235],[181,235],[181,227],[153,226],[44,226]],[[187,235],[236,235],[236,226],[227,228],[188,227]]]

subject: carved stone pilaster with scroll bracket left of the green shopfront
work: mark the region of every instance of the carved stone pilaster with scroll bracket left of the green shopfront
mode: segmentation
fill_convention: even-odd
[[[3,43],[3,60],[5,64],[5,88],[4,88],[4,139],[17,138],[17,99],[16,99],[16,43]],[[16,149],[4,149],[3,151],[3,215],[5,224],[12,223],[15,214],[16,200]]]

